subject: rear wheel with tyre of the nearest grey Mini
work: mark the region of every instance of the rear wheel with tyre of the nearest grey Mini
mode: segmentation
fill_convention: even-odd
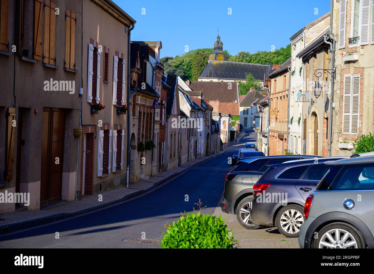
[[[343,222],[326,225],[318,232],[314,248],[364,248],[365,240],[357,228]]]

